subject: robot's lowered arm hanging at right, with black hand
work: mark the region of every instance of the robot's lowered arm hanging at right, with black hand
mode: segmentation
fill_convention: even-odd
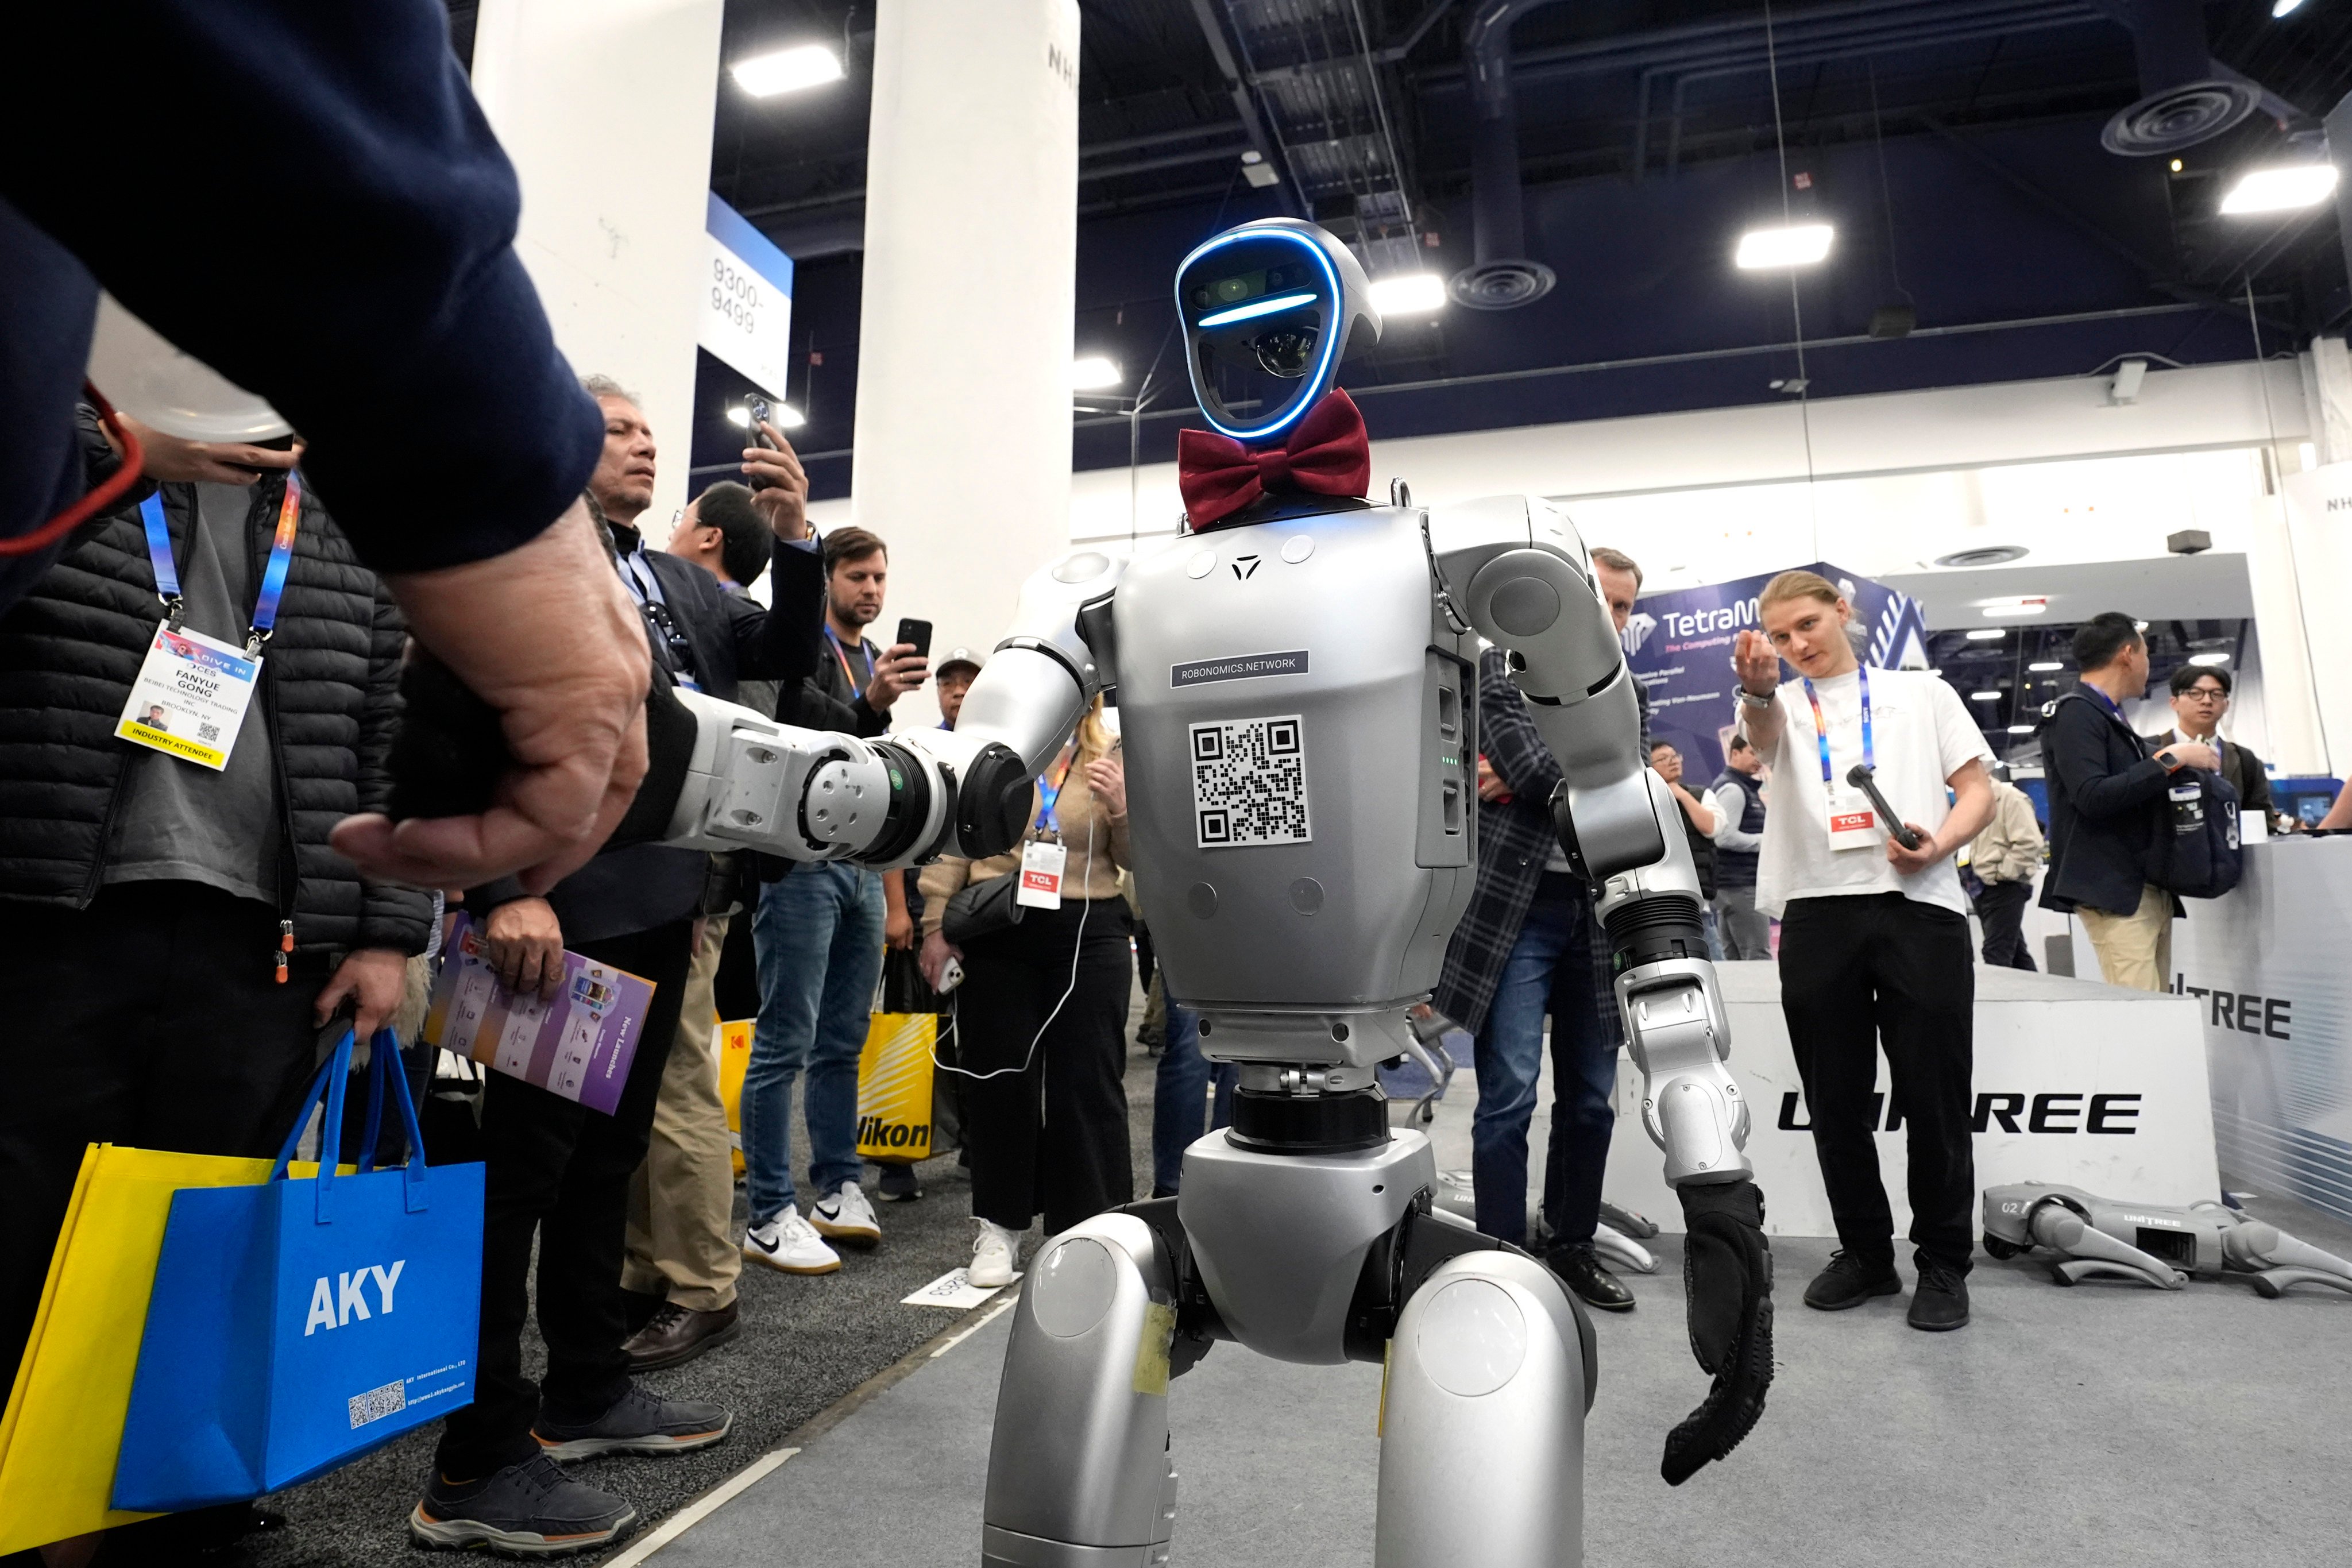
[[[1599,884],[1618,1016],[1642,1072],[1642,1124],[1689,1225],[1691,1349],[1715,1387],[1665,1439],[1675,1486],[1731,1453],[1771,1387],[1771,1253],[1743,1147],[1748,1100],[1724,1060],[1731,1025],[1708,961],[1698,867],[1679,809],[1642,755],[1642,715],[1585,548],[1543,501],[1503,496],[1428,515],[1430,569],[1454,621],[1503,649],[1559,762],[1559,842]]]

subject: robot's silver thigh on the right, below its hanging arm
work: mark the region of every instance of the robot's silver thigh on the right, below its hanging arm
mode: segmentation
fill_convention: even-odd
[[[1376,1568],[1581,1561],[1590,1403],[1550,1269],[1505,1251],[1430,1269],[1390,1340]]]

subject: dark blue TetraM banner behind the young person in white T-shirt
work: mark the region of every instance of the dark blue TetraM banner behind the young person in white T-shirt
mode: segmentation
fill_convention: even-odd
[[[1853,607],[1856,651],[1882,670],[1926,670],[1926,618],[1919,599],[1884,583],[1813,562]],[[1724,769],[1731,738],[1731,644],[1757,625],[1757,595],[1776,574],[1708,588],[1644,595],[1625,623],[1625,663],[1649,689],[1649,733],[1682,752],[1686,780],[1708,783]]]

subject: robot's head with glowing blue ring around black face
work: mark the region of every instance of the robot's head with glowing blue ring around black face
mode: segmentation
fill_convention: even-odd
[[[1242,223],[1185,256],[1176,313],[1192,397],[1237,442],[1279,437],[1331,390],[1350,348],[1381,341],[1355,254],[1298,219]]]

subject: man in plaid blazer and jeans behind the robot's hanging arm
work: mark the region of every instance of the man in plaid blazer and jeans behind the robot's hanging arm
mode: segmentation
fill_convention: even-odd
[[[1642,569],[1616,550],[1595,550],[1592,571],[1609,614],[1625,630]],[[1543,1018],[1550,1013],[1552,1138],[1543,1218],[1552,1239],[1545,1262],[1588,1305],[1630,1312],[1632,1291],[1592,1253],[1602,1168],[1616,1131],[1609,1093],[1621,1046],[1609,938],[1592,886],[1569,870],[1552,825],[1559,762],[1536,733],[1498,649],[1479,656],[1472,741],[1482,757],[1477,884],[1430,1001],[1477,1041],[1477,1119],[1470,1131],[1477,1227],[1503,1241],[1526,1241],[1526,1128],[1543,1065]],[[1646,755],[1646,693],[1642,745]]]

